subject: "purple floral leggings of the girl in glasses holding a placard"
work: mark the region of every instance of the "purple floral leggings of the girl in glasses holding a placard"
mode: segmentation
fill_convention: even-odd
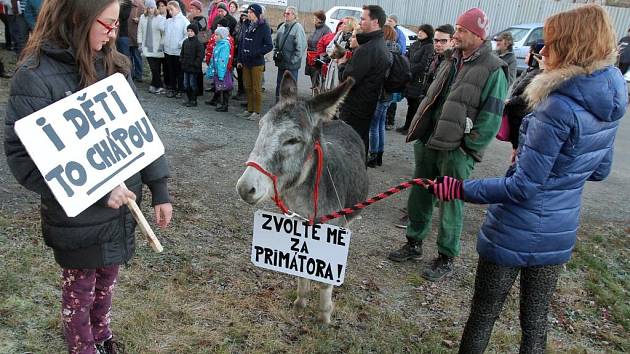
[[[97,269],[63,269],[61,319],[71,354],[94,354],[95,343],[111,338],[112,293],[118,265]]]

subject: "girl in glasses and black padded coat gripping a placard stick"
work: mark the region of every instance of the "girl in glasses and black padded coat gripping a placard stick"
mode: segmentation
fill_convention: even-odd
[[[7,162],[18,182],[41,197],[44,240],[62,267],[61,312],[70,353],[116,352],[109,328],[112,291],[119,265],[129,261],[135,248],[135,222],[125,204],[140,198],[142,184],[147,184],[155,220],[166,227],[172,216],[168,167],[164,156],[158,158],[125,182],[128,189],[116,187],[69,218],[13,127],[16,121],[112,74],[124,74],[133,87],[129,61],[114,44],[119,8],[117,0],[44,1],[11,82],[7,105]]]

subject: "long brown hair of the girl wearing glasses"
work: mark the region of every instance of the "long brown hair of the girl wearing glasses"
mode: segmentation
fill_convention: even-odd
[[[33,58],[35,66],[39,65],[44,43],[53,43],[64,49],[71,48],[79,67],[81,87],[95,83],[98,78],[89,45],[90,28],[96,18],[117,1],[119,0],[44,0],[33,33],[22,51],[21,62]],[[116,72],[129,74],[129,59],[116,50],[114,40],[103,46],[102,53],[107,75]]]

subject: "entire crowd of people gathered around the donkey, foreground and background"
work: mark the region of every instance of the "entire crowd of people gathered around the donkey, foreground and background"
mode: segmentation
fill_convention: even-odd
[[[172,216],[168,167],[161,157],[133,176],[127,188],[117,187],[68,218],[12,129],[15,122],[114,73],[130,83],[142,81],[142,57],[151,71],[150,93],[185,94],[184,104],[191,107],[210,89],[206,103],[227,112],[236,91],[246,99],[239,115],[257,120],[264,113],[263,73],[270,52],[277,87],[285,72],[298,79],[303,59],[314,94],[354,79],[337,119],[363,140],[366,167],[382,165],[388,111],[407,100],[408,113],[397,131],[413,143],[414,178],[427,186],[412,188],[406,241],[389,259],[422,259],[437,206],[437,255],[421,274],[430,281],[443,279],[461,252],[465,203],[490,205],[478,234],[474,296],[459,350],[485,350],[520,274],[521,352],[544,352],[549,302],[576,243],[584,184],[610,173],[628,100],[615,66],[619,48],[602,7],[586,5],[546,19],[544,41],[531,44],[528,68],[517,77],[511,35],[499,35],[492,50],[489,19],[479,8],[452,24],[420,25],[418,40],[407,51],[398,17],[377,5],[364,6],[359,19],[342,19],[335,31],[317,11],[308,37],[297,9],[288,6],[272,38],[265,9],[255,3],[243,12],[237,2],[222,0],[212,0],[208,8],[198,0],[22,3],[33,6],[33,18],[15,7],[7,10],[15,1],[3,0],[3,14],[24,13],[30,28],[26,41],[13,26],[21,20],[12,18],[8,26],[16,30],[7,45],[21,59],[7,105],[5,153],[16,179],[41,196],[42,232],[62,268],[62,320],[70,353],[120,350],[109,314],[119,265],[134,253],[135,226],[124,204],[139,197],[146,184],[156,221],[166,227]],[[400,70],[394,63],[402,55],[408,82],[392,91],[388,83]],[[503,128],[513,148],[505,176],[469,179]]]

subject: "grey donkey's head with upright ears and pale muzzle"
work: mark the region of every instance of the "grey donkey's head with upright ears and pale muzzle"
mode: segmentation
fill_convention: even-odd
[[[250,162],[277,177],[278,193],[304,182],[314,161],[315,142],[322,123],[331,119],[354,84],[351,78],[332,91],[311,99],[297,97],[297,85],[286,72],[280,84],[280,101],[260,120],[260,131]],[[248,166],[236,184],[241,198],[256,204],[274,196],[272,179]]]

